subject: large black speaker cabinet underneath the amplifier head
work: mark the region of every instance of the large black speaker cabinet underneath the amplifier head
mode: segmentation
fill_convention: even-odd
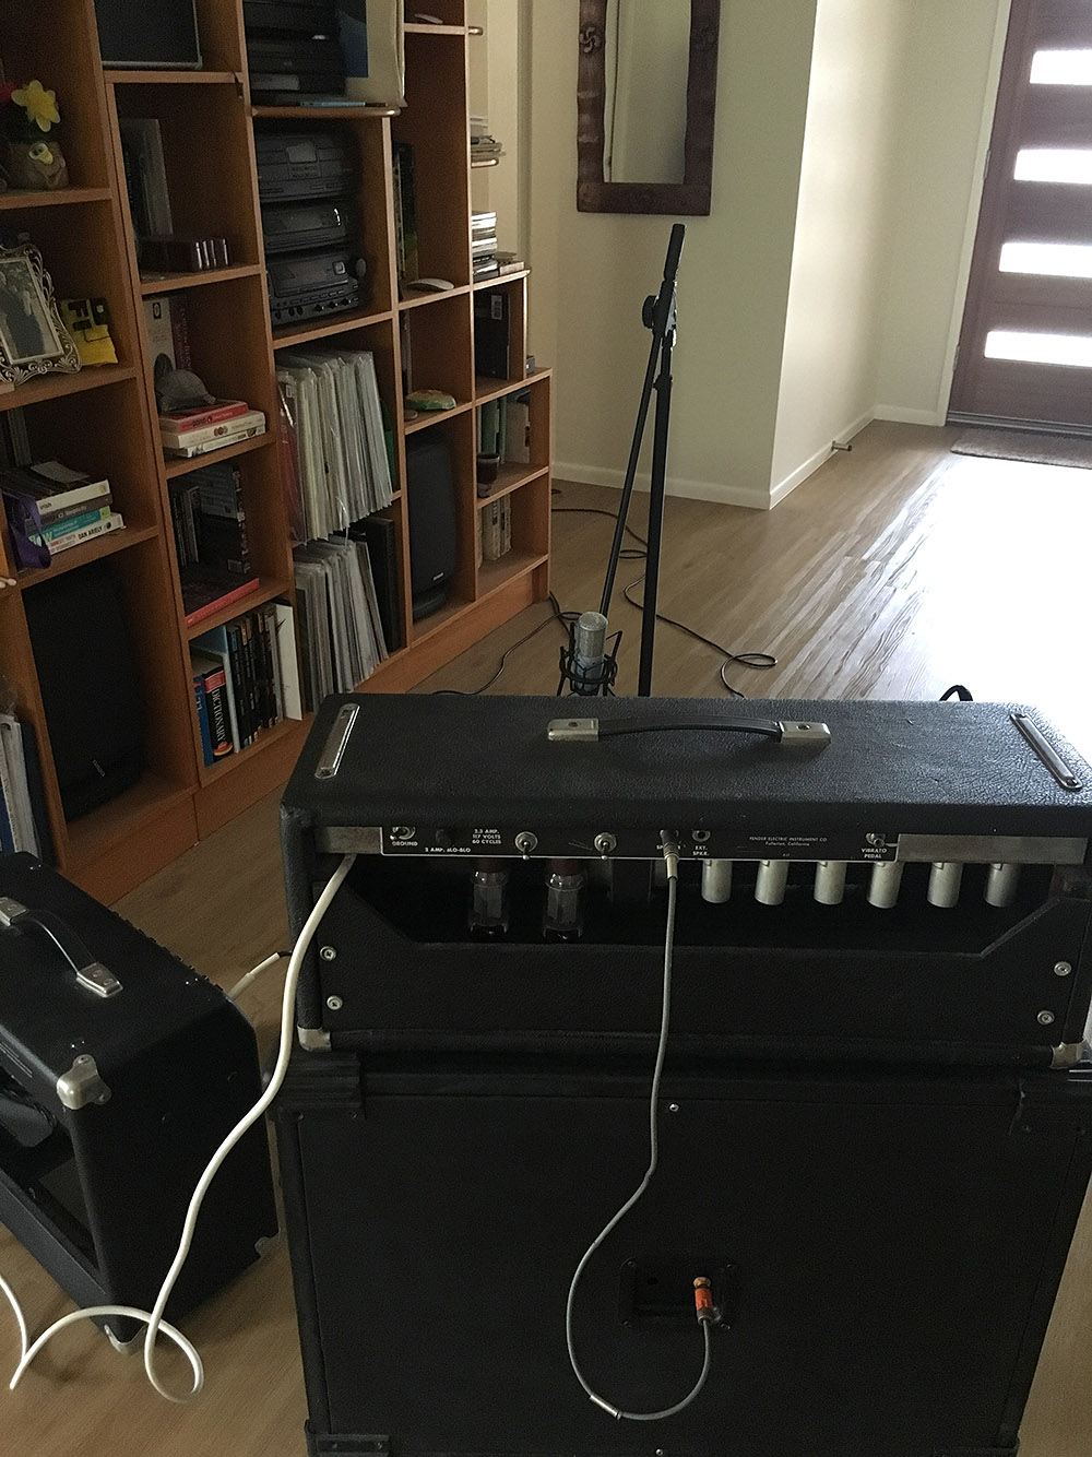
[[[692,1281],[712,1281],[705,1390],[636,1423],[577,1384],[565,1294],[648,1163],[649,1071],[296,1053],[275,1116],[309,1451],[1015,1457],[1092,1167],[1091,1069],[676,1064],[660,1170],[574,1311],[598,1390],[655,1410],[695,1383]]]

